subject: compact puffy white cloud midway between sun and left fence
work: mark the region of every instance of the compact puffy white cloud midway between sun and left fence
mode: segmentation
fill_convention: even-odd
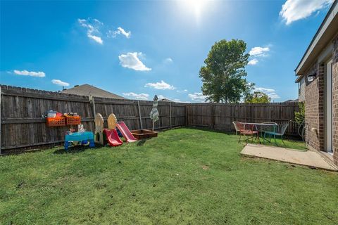
[[[144,65],[141,60],[139,60],[138,56],[142,56],[142,53],[139,52],[128,52],[127,54],[122,54],[121,56],[118,56],[120,59],[120,64],[124,68],[130,68],[132,70],[138,70],[138,71],[149,71],[151,68],[147,68],[146,65]]]

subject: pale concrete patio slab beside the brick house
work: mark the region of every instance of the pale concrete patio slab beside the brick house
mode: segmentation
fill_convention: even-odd
[[[338,171],[337,166],[325,160],[315,151],[299,151],[290,148],[247,144],[241,154],[249,157],[266,158],[296,165]]]

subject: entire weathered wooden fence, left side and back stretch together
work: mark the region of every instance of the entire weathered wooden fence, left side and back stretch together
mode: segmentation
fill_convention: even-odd
[[[105,123],[114,113],[130,129],[151,129],[149,113],[152,101],[135,101],[62,94],[1,85],[1,153],[16,148],[61,143],[69,127],[46,127],[42,115],[48,110],[78,113],[84,128],[94,131],[94,110],[101,113]],[[232,121],[287,122],[294,119],[297,103],[221,104],[158,102],[160,120],[155,129],[194,126],[232,131]],[[108,127],[105,124],[105,127]],[[297,126],[290,124],[288,135],[297,135]]]

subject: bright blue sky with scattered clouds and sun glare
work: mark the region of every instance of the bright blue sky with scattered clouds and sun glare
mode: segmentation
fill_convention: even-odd
[[[243,39],[249,82],[297,98],[294,68],[332,0],[1,1],[1,84],[92,84],[127,98],[203,101],[199,69],[220,39]]]

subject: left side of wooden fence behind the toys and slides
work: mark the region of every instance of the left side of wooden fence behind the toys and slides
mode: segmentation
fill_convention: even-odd
[[[130,129],[151,129],[149,113],[152,101],[120,100],[94,97],[96,113],[105,120],[114,113]],[[94,108],[88,96],[61,94],[51,91],[1,86],[1,151],[44,144],[61,143],[68,127],[46,127],[42,114],[48,110],[78,113],[84,128],[94,131]],[[155,129],[185,125],[185,104],[159,102],[159,121]]]

